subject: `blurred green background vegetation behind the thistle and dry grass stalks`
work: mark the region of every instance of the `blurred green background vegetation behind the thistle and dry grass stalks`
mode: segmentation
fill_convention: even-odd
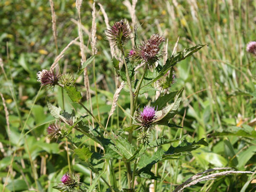
[[[127,2],[110,0],[96,3],[102,4],[111,25],[121,19],[131,21]],[[92,3],[84,1],[81,8],[87,58],[92,55],[89,35]],[[189,157],[161,164],[158,170],[161,181],[158,181],[157,191],[173,190],[192,175],[211,167],[255,170],[255,62],[245,51],[247,42],[255,39],[255,8],[255,1],[249,0],[138,1],[135,10],[140,37],[147,39],[153,33],[163,35],[167,39],[169,54],[178,37],[178,51],[196,44],[208,45],[174,68],[177,78],[170,91],[185,87],[185,93],[179,114],[173,121],[183,129],[165,127],[165,133],[170,139],[183,134],[188,134],[188,139],[196,141],[206,138],[209,146],[191,152]],[[55,0],[54,9],[57,15],[58,49],[53,38],[48,1],[0,2],[0,56],[3,59],[0,92],[5,99],[10,122],[10,126],[6,124],[6,111],[1,104],[0,189],[3,189],[12,164],[5,191],[57,191],[52,186],[68,170],[67,154],[74,171],[80,173],[81,180],[88,185],[92,182],[90,170],[79,163],[76,156],[70,155],[67,142],[50,142],[46,138],[47,125],[54,121],[46,105],[46,95],[52,103],[65,107],[69,112],[77,107],[71,106],[68,98],[63,106],[61,91],[58,89],[54,89],[54,92],[41,90],[38,93],[40,84],[36,81],[37,71],[50,68],[56,55],[78,36],[75,2]],[[88,71],[94,114],[97,114],[98,102],[101,121],[106,122],[111,98],[116,90],[115,70],[109,44],[103,34],[106,24],[98,4],[96,9],[98,55],[95,57],[95,71],[98,101],[93,94],[95,86],[91,65]],[[60,60],[64,71],[77,70],[81,63],[79,51],[79,44],[67,50]],[[77,84],[83,87],[85,94],[82,77],[78,78]],[[147,103],[147,100],[141,98],[140,102]],[[128,108],[129,93],[123,93],[118,103],[124,110]],[[122,129],[126,119],[121,109],[119,113],[122,118],[111,118],[111,129],[116,131]],[[88,139],[83,142],[94,147],[94,143]],[[12,161],[14,150],[17,152]],[[118,167],[118,162],[115,163]],[[124,174],[124,170],[114,171],[117,177]],[[254,178],[254,175],[220,177],[186,190],[254,191]],[[143,190],[147,191],[150,183],[143,183],[143,186]]]

